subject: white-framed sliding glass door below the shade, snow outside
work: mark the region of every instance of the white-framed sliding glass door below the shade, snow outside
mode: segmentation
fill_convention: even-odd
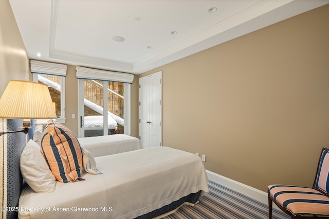
[[[124,120],[126,88],[130,90],[130,84],[79,79],[79,137],[127,132],[125,124],[129,120]]]

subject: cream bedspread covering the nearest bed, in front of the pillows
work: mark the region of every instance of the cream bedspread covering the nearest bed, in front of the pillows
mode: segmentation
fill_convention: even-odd
[[[84,173],[86,180],[77,183],[57,182],[53,193],[24,187],[19,218],[135,218],[190,193],[209,192],[204,165],[189,152],[155,147],[95,159],[103,174]]]

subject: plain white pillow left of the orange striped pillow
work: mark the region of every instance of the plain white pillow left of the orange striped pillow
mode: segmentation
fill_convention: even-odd
[[[56,178],[52,175],[40,146],[33,140],[23,149],[20,168],[24,180],[35,192],[51,193],[55,190]]]

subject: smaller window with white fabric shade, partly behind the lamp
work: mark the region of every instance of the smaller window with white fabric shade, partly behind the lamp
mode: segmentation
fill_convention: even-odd
[[[31,61],[33,82],[48,86],[59,123],[65,123],[65,76],[66,65]]]

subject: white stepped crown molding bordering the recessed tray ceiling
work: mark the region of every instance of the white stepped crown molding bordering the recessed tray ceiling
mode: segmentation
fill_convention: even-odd
[[[163,45],[157,52],[142,57],[138,62],[127,63],[55,49],[59,1],[52,0],[49,58],[71,62],[73,65],[82,66],[82,63],[85,67],[135,74],[143,73],[169,62],[176,61],[179,58],[224,43],[235,37],[282,21],[282,19],[290,17],[290,11],[294,11],[296,14],[302,13],[304,9],[298,9],[301,8],[298,7],[300,5],[306,5],[305,9],[307,10],[310,7],[304,1],[301,3],[301,0],[249,0],[244,5],[223,14],[203,27],[177,38],[176,41],[170,44]],[[321,5],[324,3],[318,1],[317,4]],[[278,13],[282,14],[281,16],[270,17],[270,14],[273,14],[275,11],[282,11],[283,13]]]

